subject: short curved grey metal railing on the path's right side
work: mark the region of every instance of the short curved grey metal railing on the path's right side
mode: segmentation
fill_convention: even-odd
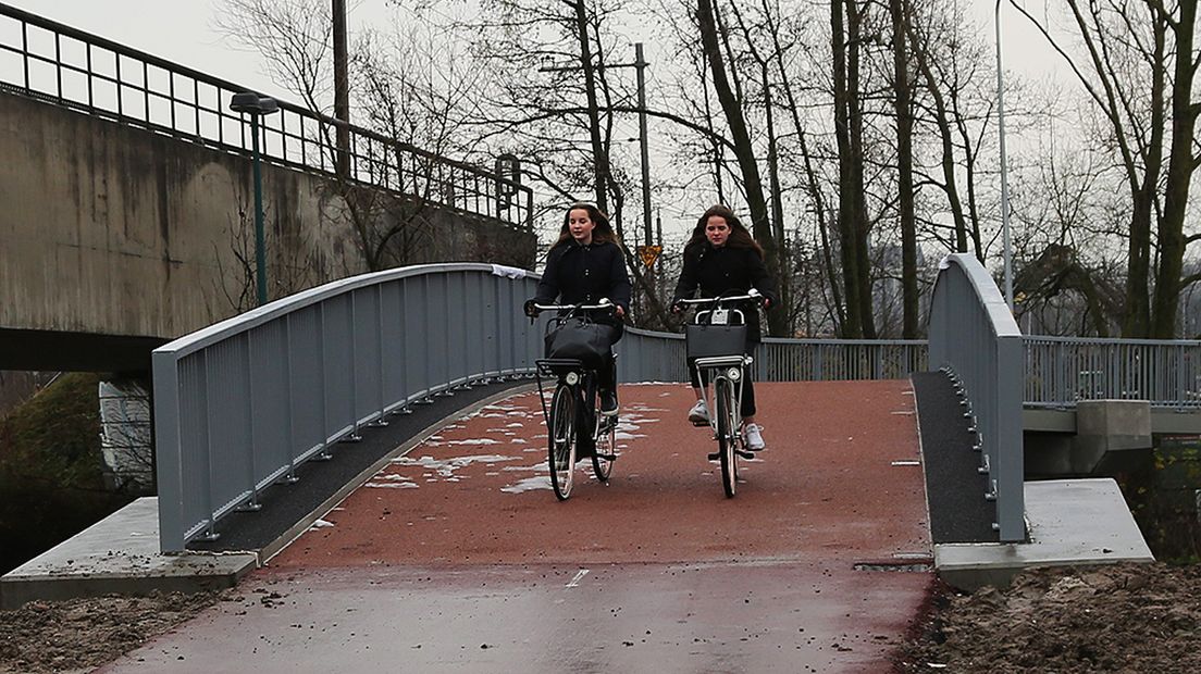
[[[1022,456],[1022,333],[974,255],[944,258],[930,312],[930,365],[950,373],[976,431],[984,498],[1005,542],[1026,538]]]

